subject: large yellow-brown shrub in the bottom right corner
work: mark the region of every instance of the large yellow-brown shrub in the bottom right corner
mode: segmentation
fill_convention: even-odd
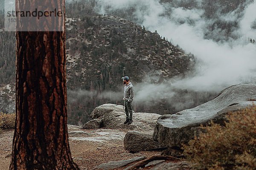
[[[211,122],[188,145],[184,156],[200,170],[255,170],[256,105],[227,114],[225,126]]]

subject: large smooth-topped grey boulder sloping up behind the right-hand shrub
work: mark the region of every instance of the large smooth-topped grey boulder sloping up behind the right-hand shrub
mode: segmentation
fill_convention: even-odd
[[[168,147],[181,147],[198,135],[200,124],[213,122],[224,125],[225,115],[229,111],[247,108],[256,102],[256,84],[230,86],[217,97],[192,109],[167,114],[157,119],[154,140]]]

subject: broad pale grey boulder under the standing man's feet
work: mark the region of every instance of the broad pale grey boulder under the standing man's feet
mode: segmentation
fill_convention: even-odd
[[[133,122],[131,125],[127,125],[123,124],[126,115],[122,105],[104,104],[92,111],[90,117],[93,120],[87,122],[84,127],[93,127],[95,122],[100,122],[101,127],[111,129],[154,130],[159,116],[161,115],[156,113],[133,113]]]

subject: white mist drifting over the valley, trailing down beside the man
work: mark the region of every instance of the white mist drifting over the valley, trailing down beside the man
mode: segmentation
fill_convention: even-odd
[[[197,60],[195,71],[186,78],[175,77],[160,85],[148,82],[134,85],[134,102],[168,99],[172,103],[177,89],[218,93],[230,85],[255,83],[256,46],[249,43],[248,38],[256,38],[256,2],[246,1],[228,12],[223,12],[224,7],[215,4],[216,10],[210,17],[207,17],[208,11],[202,0],[182,3],[178,0],[172,0],[172,3],[157,0],[97,2],[96,12],[122,14],[151,32],[157,30],[160,36],[166,37],[173,45],[178,44],[186,53],[194,54]],[[185,8],[184,4],[189,2],[193,6]],[[226,27],[218,28],[216,22],[223,22]],[[189,94],[182,97],[187,99],[184,103],[193,98]]]

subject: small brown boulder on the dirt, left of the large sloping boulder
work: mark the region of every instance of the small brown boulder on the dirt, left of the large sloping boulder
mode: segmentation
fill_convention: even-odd
[[[130,152],[139,152],[143,150],[154,150],[164,148],[165,146],[153,140],[153,130],[141,132],[130,130],[125,134],[125,150]]]

